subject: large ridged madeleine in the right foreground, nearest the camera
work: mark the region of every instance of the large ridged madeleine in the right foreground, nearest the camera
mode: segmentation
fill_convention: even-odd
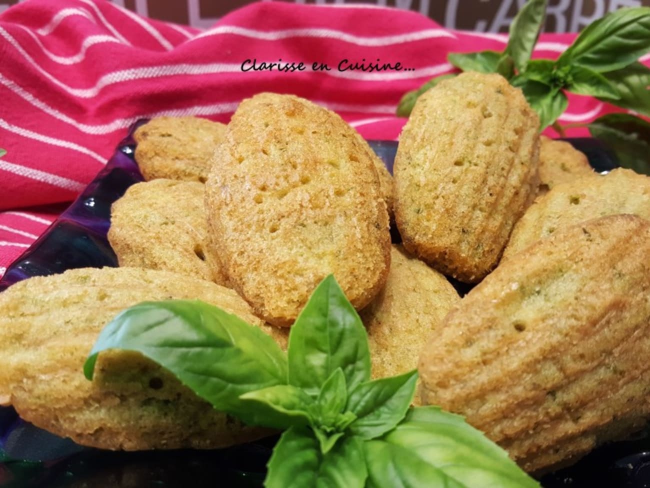
[[[422,401],[525,470],[574,460],[650,414],[650,222],[564,227],[501,263],[421,353]]]

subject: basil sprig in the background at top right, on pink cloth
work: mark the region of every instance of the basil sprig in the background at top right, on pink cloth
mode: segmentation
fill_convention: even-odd
[[[567,109],[565,91],[650,117],[650,70],[638,62],[650,51],[650,7],[620,8],[588,25],[557,60],[530,60],[544,25],[546,7],[546,0],[528,0],[510,25],[508,45],[502,53],[450,53],[449,62],[461,71],[500,73],[521,88],[539,115],[540,131],[553,125],[560,135],[564,134],[556,120]],[[417,97],[440,79],[434,78],[402,97],[397,115],[408,117]],[[639,150],[642,144],[637,144],[650,139],[647,124],[632,115],[625,118],[629,121],[625,125],[633,126],[634,133],[620,131],[620,123],[612,128],[608,120],[587,127],[592,136],[610,145],[621,166],[650,174],[647,158]],[[631,122],[632,118],[636,122]],[[634,143],[627,146],[630,138]]]

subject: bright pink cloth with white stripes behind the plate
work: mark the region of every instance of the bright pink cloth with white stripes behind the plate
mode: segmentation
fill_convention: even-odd
[[[554,58],[573,34],[542,36]],[[257,92],[297,94],[336,110],[366,138],[395,139],[404,92],[452,71],[447,53],[502,50],[506,36],[441,29],[420,14],[364,5],[264,2],[198,31],[140,18],[103,0],[29,0],[0,15],[0,276],[110,157],[138,118],[227,122]],[[402,71],[337,70],[379,59]],[[245,60],[304,71],[242,71]],[[312,63],[330,71],[314,71]],[[571,97],[562,122],[611,110]]]

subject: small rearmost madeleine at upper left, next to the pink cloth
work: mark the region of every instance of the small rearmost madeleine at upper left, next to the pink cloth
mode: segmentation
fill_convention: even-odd
[[[157,117],[136,129],[135,160],[147,181],[205,183],[225,132],[226,125],[198,117]]]

